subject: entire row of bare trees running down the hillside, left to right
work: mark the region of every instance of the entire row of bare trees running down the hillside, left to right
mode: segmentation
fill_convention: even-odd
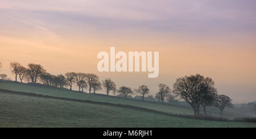
[[[2,64],[0,63],[1,67]],[[19,78],[20,82],[26,81],[27,83],[35,84],[38,83],[39,79],[39,83],[43,85],[59,88],[68,87],[69,90],[72,90],[73,84],[75,84],[81,92],[88,89],[89,94],[96,93],[96,91],[102,90],[102,87],[104,87],[107,95],[110,92],[113,92],[115,95],[117,91],[125,99],[129,95],[137,93],[138,95],[135,96],[137,99],[156,99],[159,103],[163,103],[166,100],[167,102],[174,102],[176,98],[185,100],[193,108],[195,115],[199,115],[200,107],[203,107],[205,115],[207,114],[206,108],[209,106],[217,107],[220,109],[221,114],[224,108],[233,107],[232,99],[229,96],[218,95],[212,78],[204,77],[200,74],[177,78],[172,90],[167,85],[159,83],[159,91],[155,96],[152,96],[148,95],[150,89],[146,85],[141,85],[134,90],[131,87],[121,86],[117,90],[115,83],[110,78],[100,81],[98,75],[93,73],[67,72],[64,75],[52,75],[40,64],[30,63],[25,67],[18,62],[11,62],[10,68],[12,73],[15,74],[16,82],[18,82]]]

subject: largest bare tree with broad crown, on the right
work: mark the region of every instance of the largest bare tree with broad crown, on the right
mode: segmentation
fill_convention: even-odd
[[[176,79],[173,92],[191,105],[195,115],[199,115],[200,101],[203,100],[205,90],[205,78],[196,74]]]

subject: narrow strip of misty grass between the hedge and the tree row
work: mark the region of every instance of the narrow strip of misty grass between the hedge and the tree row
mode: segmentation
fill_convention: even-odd
[[[11,91],[32,92],[40,95],[57,96],[57,97],[64,97],[64,98],[71,98],[71,99],[92,100],[95,102],[126,104],[131,106],[154,109],[157,111],[162,111],[167,113],[193,115],[192,109],[187,106],[177,107],[177,106],[163,105],[158,103],[151,103],[147,101],[142,102],[139,100],[131,100],[131,99],[123,100],[122,98],[113,97],[113,96],[93,95],[93,94],[86,94],[86,93],[69,91],[69,90],[53,89],[49,87],[35,87],[35,86],[26,85],[23,83],[0,81],[0,89],[6,89]],[[211,110],[211,111],[208,111],[208,113],[211,116],[220,116],[217,110]],[[230,113],[230,112],[224,112],[224,117],[233,118],[233,117],[241,117],[241,115]]]

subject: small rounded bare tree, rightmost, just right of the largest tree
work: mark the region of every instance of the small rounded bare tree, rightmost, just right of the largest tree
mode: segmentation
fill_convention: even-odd
[[[217,99],[214,101],[214,106],[220,109],[220,113],[222,115],[222,112],[225,107],[233,107],[233,104],[231,102],[232,99],[230,99],[229,96],[218,95]]]

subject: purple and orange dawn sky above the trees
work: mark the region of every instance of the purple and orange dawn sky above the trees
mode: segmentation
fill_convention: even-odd
[[[117,86],[172,88],[176,78],[210,77],[234,103],[256,100],[256,1],[0,0],[0,73],[10,62],[51,74],[95,73]],[[159,77],[100,73],[97,53],[158,51]],[[104,93],[105,90],[101,92]],[[136,95],[136,94],[134,94]]]

